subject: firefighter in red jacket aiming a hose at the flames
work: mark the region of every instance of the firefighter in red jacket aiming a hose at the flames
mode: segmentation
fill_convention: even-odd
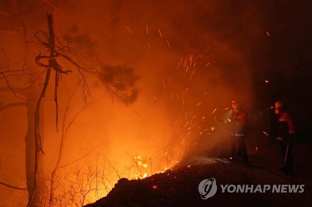
[[[232,103],[232,115],[230,119],[224,120],[231,124],[231,157],[234,160],[236,155],[241,155],[243,162],[248,163],[245,138],[248,133],[248,116],[238,102]],[[236,154],[236,144],[237,154]]]

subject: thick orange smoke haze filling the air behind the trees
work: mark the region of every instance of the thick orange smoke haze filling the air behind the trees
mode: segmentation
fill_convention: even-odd
[[[286,45],[291,44],[293,34],[283,32],[289,25],[297,25],[298,32],[302,24],[283,19],[283,11],[292,14],[289,7],[293,5],[289,2],[54,0],[2,1],[0,6],[2,76],[8,75],[4,71],[22,67],[44,71],[36,65],[34,57],[48,52],[34,35],[37,31],[48,32],[47,14],[52,14],[55,35],[61,40],[65,34],[84,34],[90,38],[96,52],[88,53],[88,48],[83,48],[88,55],[78,57],[81,64],[127,65],[140,76],[135,85],[140,89],[138,99],[125,107],[105,91],[99,80],[86,74],[92,96],[87,101],[95,102],[81,110],[86,103],[81,99],[81,89],[76,89],[67,126],[73,118],[74,121],[66,133],[61,166],[75,160],[80,165],[94,166],[109,160],[110,167],[118,169],[121,177],[133,179],[172,168],[193,153],[220,146],[227,149],[227,126],[214,120],[227,118],[226,108],[231,107],[232,101],[241,102],[252,128],[266,131],[267,123],[260,122],[266,118],[266,108],[276,99],[284,99],[296,109],[290,96],[278,93],[283,87],[291,88],[287,83],[281,86],[280,77],[290,80],[289,84],[307,78],[294,75],[296,78],[291,79],[295,70],[292,66],[299,64],[297,59],[302,58],[301,63],[308,64],[311,53],[305,52],[309,45],[300,52],[301,43],[294,48],[296,54],[290,56],[293,51]],[[298,8],[305,5],[294,9]],[[301,20],[305,10],[302,13],[292,17]],[[308,34],[303,30],[298,35],[304,39]],[[32,41],[25,46],[25,42]],[[58,88],[58,133],[53,71],[43,104],[42,158],[47,182],[58,159],[67,101],[81,78],[72,64],[61,60],[59,63],[73,73],[63,74]],[[310,74],[304,66],[297,67],[300,68],[303,74]],[[23,76],[0,77],[0,86],[7,87],[8,81],[12,87],[25,87],[26,80]],[[290,94],[301,97],[295,92]],[[13,93],[1,93],[0,97],[0,107],[23,101]],[[0,181],[20,188],[26,188],[26,115],[25,106],[0,111]],[[133,167],[134,157],[138,156],[148,168]],[[119,178],[114,173],[108,177],[111,188]],[[0,192],[1,206],[16,205],[21,199],[25,205],[27,201],[22,198],[24,191],[21,194],[0,185]],[[102,197],[105,195],[105,191],[101,192]],[[89,201],[96,199],[92,197]]]

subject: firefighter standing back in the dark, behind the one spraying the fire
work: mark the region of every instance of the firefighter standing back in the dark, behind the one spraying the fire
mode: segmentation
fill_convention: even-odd
[[[276,140],[280,145],[284,160],[284,165],[279,171],[284,172],[286,175],[293,175],[294,159],[291,153],[295,138],[293,119],[289,111],[286,110],[283,101],[277,101],[274,109],[275,113],[279,116],[276,125]]]

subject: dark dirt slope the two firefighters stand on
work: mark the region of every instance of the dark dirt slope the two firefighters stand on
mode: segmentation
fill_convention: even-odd
[[[311,206],[311,145],[300,141],[294,143],[294,175],[285,176],[278,171],[282,164],[279,146],[260,133],[251,132],[246,138],[248,164],[222,159],[229,149],[216,146],[190,156],[164,173],[142,180],[122,178],[106,197],[86,206]],[[203,200],[198,185],[208,178],[215,178],[217,192]],[[271,189],[255,193],[225,190],[222,193],[220,186],[243,184],[270,185]],[[304,191],[273,193],[273,185],[304,185]]]

